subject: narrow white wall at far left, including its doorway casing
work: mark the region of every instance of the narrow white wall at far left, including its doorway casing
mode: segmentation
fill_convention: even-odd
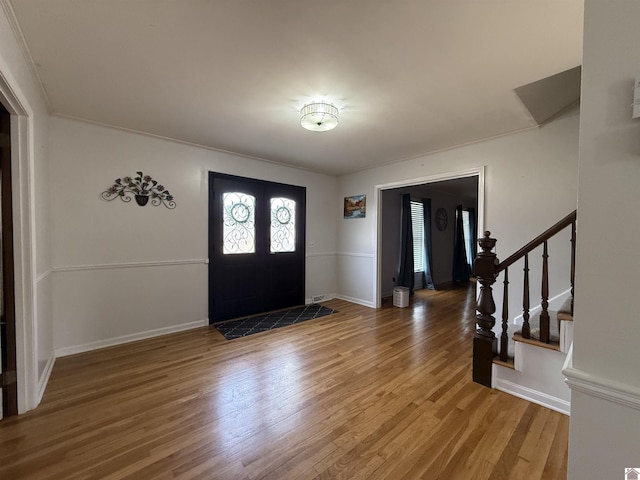
[[[53,366],[48,111],[0,3],[0,99],[12,117],[18,407],[40,401]]]

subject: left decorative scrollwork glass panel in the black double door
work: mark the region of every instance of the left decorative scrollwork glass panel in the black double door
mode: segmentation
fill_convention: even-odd
[[[222,209],[222,253],[255,253],[256,197],[242,192],[225,192]]]

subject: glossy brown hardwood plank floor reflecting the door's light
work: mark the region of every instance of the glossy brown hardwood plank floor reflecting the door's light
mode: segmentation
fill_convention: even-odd
[[[568,418],[471,381],[474,292],[56,361],[2,479],[566,478]]]

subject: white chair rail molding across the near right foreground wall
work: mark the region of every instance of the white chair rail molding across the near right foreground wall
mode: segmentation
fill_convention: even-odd
[[[566,377],[565,382],[572,392],[581,392],[640,410],[640,388],[573,368],[573,345],[567,354],[562,374]]]

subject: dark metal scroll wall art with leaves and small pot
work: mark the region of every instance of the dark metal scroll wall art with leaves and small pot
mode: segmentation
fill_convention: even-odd
[[[141,207],[144,207],[151,200],[151,205],[154,206],[164,205],[169,209],[176,208],[173,195],[164,185],[160,185],[150,175],[145,175],[142,172],[136,173],[137,177],[116,179],[111,187],[100,194],[100,197],[109,202],[119,198],[125,203],[135,199],[136,203]]]

